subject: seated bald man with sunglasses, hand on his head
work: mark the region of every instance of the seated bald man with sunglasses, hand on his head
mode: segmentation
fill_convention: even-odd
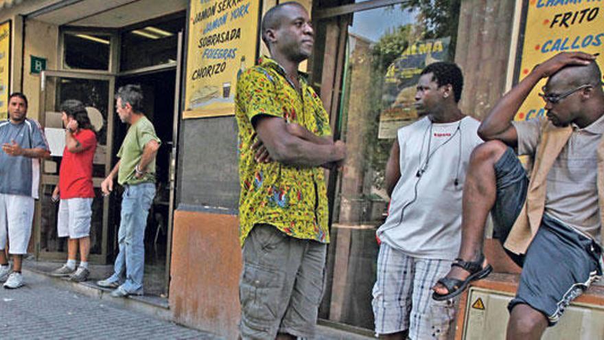
[[[458,264],[433,297],[458,295],[489,267],[482,248],[490,211],[493,237],[522,266],[507,339],[540,339],[602,275],[604,93],[595,58],[564,52],[537,65],[478,128],[486,142],[470,158]],[[514,122],[544,78],[546,117]],[[517,155],[531,157],[530,179]]]

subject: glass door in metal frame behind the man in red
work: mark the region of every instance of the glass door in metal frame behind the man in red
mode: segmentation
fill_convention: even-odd
[[[92,206],[90,261],[106,264],[113,251],[116,228],[109,227],[110,196],[103,197],[100,186],[111,171],[113,141],[113,93],[115,77],[67,71],[43,71],[40,77],[40,123],[51,147],[51,158],[42,162],[40,199],[36,202],[34,242],[39,260],[65,260],[67,238],[57,237],[58,204],[51,201],[58,185],[65,131],[61,122],[60,104],[68,99],[80,100],[97,134],[97,150],[93,161],[95,198]]]

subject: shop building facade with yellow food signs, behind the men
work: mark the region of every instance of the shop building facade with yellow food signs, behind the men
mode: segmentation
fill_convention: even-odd
[[[314,54],[301,67],[349,155],[345,172],[327,173],[332,243],[321,323],[371,335],[375,230],[388,204],[384,168],[397,128],[417,119],[419,71],[437,60],[458,63],[465,76],[461,109],[480,119],[548,56],[566,49],[604,52],[604,14],[585,1],[299,2],[312,13],[315,30]],[[277,3],[0,1],[0,114],[8,93],[22,91],[30,98],[28,115],[56,146],[43,164],[31,245],[36,258],[65,257],[50,196],[61,159],[58,107],[78,99],[89,106],[99,140],[91,260],[113,261],[119,195],[102,197],[100,183],[126,134],[115,119],[114,93],[139,83],[144,112],[163,141],[146,232],[146,275],[159,284],[146,292],[167,296],[175,321],[236,337],[240,188],[229,105],[237,71],[268,54],[259,19]],[[560,24],[564,13],[582,11],[581,23]],[[543,114],[533,97],[518,119]],[[509,263],[500,269],[518,270]]]

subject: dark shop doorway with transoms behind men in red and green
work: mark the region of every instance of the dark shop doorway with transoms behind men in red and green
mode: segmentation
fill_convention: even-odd
[[[135,1],[126,7],[142,3],[148,1]],[[151,120],[162,141],[156,158],[156,196],[150,208],[145,235],[144,286],[146,295],[167,296],[176,196],[176,140],[180,120],[185,12],[178,10],[147,21],[132,23],[134,19],[130,19],[124,22],[127,25],[112,25],[124,21],[120,19],[119,12],[120,8],[115,8],[95,14],[111,14],[111,20],[102,21],[107,25],[105,27],[58,27],[58,70],[41,73],[39,117],[46,128],[56,129],[56,139],[60,141],[65,137],[61,137],[62,126],[57,117],[60,117],[58,110],[64,100],[81,100],[97,115],[95,125],[99,127],[99,143],[93,174],[97,197],[93,201],[90,261],[101,268],[91,273],[91,280],[100,280],[111,274],[117,256],[121,207],[120,188],[103,197],[100,183],[115,166],[115,155],[128,131],[128,125],[117,119],[114,94],[125,84],[141,85],[145,98],[143,113]],[[95,16],[86,18],[82,25],[93,21]],[[45,14],[39,17],[44,18]],[[45,262],[63,261],[67,257],[67,242],[56,235],[57,207],[50,200],[51,190],[58,182],[61,156],[58,152],[43,162],[42,167],[42,195],[36,209],[34,242],[36,259]]]

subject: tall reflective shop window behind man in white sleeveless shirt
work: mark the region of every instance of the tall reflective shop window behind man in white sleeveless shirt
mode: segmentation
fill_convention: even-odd
[[[322,319],[373,329],[371,290],[379,249],[375,231],[386,218],[389,201],[386,161],[397,129],[418,118],[414,103],[419,72],[454,57],[459,1],[425,2],[406,1],[316,23],[319,45],[312,83],[331,84],[325,82],[327,73],[334,74],[333,83],[339,84],[335,91],[319,90],[322,95],[332,91],[332,99],[323,101],[332,102],[328,109],[336,135],[347,144],[346,171],[330,185],[332,243]],[[340,45],[340,53],[332,52],[334,45]],[[334,55],[343,60],[329,60]]]

